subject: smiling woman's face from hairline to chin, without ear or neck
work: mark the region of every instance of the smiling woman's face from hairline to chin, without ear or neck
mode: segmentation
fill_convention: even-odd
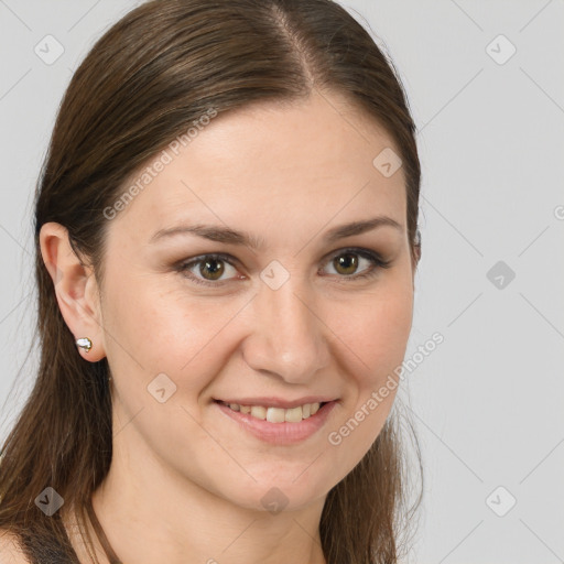
[[[313,95],[218,116],[167,150],[108,225],[100,312],[120,448],[260,510],[268,496],[318,500],[360,462],[412,323],[405,178],[372,164],[387,148],[345,99]],[[315,402],[300,423],[257,409]],[[269,419],[281,413],[307,408]]]

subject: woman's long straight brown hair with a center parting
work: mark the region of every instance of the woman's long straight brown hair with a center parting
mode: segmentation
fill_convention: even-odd
[[[77,354],[42,260],[42,225],[66,227],[73,249],[101,283],[109,224],[104,209],[135,170],[209,108],[223,113],[253,102],[299,102],[314,88],[344,94],[392,137],[403,161],[416,264],[415,126],[392,63],[336,2],[149,1],[107,31],[74,74],[36,191],[41,362],[0,465],[0,527],[35,546],[26,549],[31,557],[62,562],[64,554],[77,562],[63,510],[45,518],[34,500],[52,487],[64,498],[63,509],[75,508],[78,522],[86,523],[112,449],[109,366],[106,358],[88,362]],[[329,491],[319,531],[328,564],[398,561],[423,491],[408,510],[402,434],[394,405],[366,456]],[[415,446],[422,477],[416,437]]]

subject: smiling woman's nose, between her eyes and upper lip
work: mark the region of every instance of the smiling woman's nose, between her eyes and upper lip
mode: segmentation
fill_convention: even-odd
[[[319,300],[291,276],[281,288],[261,285],[250,307],[252,333],[242,345],[247,364],[290,383],[307,383],[328,364],[327,333]]]

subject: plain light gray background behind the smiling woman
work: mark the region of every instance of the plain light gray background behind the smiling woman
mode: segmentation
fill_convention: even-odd
[[[32,198],[55,111],[93,42],[138,3],[0,0],[2,438],[36,368]],[[386,45],[420,128],[406,357],[445,340],[401,390],[425,468],[409,562],[564,562],[564,2],[340,3]],[[51,65],[34,53],[47,34],[65,50]]]

